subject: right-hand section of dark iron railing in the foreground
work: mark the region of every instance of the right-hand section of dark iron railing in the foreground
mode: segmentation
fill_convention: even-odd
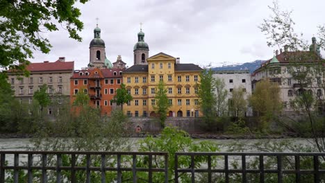
[[[189,168],[180,168],[178,167],[178,159],[181,156],[190,157],[191,162]],[[195,168],[195,157],[203,157],[207,159],[206,167],[204,168]],[[235,161],[241,162],[241,168],[230,168],[229,159],[232,157],[240,157]],[[247,168],[247,157],[258,157],[258,168],[252,169]],[[266,169],[265,168],[265,159],[267,157],[276,158],[276,168]],[[293,159],[292,169],[283,168],[283,160],[285,158]],[[313,169],[301,169],[301,158],[310,157],[313,159]],[[179,180],[180,173],[190,173],[191,182],[195,182],[196,173],[208,173],[208,182],[213,182],[213,173],[222,173],[224,174],[224,182],[230,182],[231,173],[241,174],[242,180],[240,182],[250,182],[247,179],[247,174],[259,175],[259,180],[256,182],[265,182],[265,175],[267,174],[276,174],[277,182],[283,182],[283,175],[295,175],[295,178],[292,182],[306,182],[301,180],[301,175],[313,175],[313,182],[325,182],[324,178],[321,180],[321,175],[325,174],[324,166],[324,157],[325,153],[176,153],[174,157],[175,167],[174,167],[174,181],[177,183]],[[223,168],[213,168],[212,161],[213,159],[219,159],[217,161],[223,162]],[[288,160],[288,159],[287,159]],[[251,161],[251,159],[249,159]],[[322,169],[324,168],[324,169]],[[219,176],[220,179],[220,176]]]

